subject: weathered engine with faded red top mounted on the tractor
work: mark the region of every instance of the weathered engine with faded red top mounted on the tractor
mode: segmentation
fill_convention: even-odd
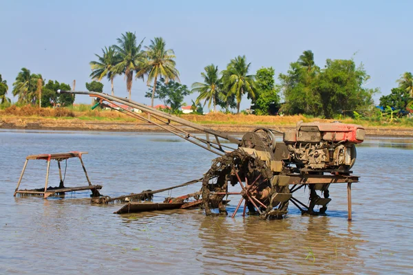
[[[349,170],[357,157],[354,144],[363,142],[364,135],[357,124],[301,122],[283,140],[297,168]]]

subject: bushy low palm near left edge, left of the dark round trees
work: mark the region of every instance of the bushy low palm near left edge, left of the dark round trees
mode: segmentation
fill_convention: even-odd
[[[19,102],[28,103],[36,98],[37,80],[42,78],[41,74],[31,74],[30,69],[21,68],[13,83],[13,96],[19,96]],[[43,78],[42,78],[43,79]]]

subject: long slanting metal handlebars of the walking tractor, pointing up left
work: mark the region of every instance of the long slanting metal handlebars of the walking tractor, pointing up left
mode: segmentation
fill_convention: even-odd
[[[213,153],[216,153],[218,155],[224,155],[226,151],[233,151],[235,148],[232,148],[231,146],[227,146],[221,143],[220,139],[223,140],[228,140],[229,142],[236,144],[237,146],[240,144],[240,139],[237,137],[233,137],[232,135],[228,135],[226,133],[222,133],[220,131],[215,131],[213,129],[195,124],[193,122],[189,122],[187,120],[184,120],[182,118],[178,118],[175,115],[170,115],[169,113],[165,113],[163,111],[159,111],[157,109],[153,109],[147,105],[140,104],[138,102],[135,102],[133,100],[127,99],[127,98],[120,98],[118,96],[109,96],[108,94],[103,94],[103,93],[98,93],[96,91],[57,91],[59,94],[83,94],[83,95],[88,95],[94,98],[98,98],[100,100],[100,104],[103,107],[109,107],[109,105],[103,103],[103,101],[106,101],[110,104],[113,104],[114,106],[118,107],[119,109],[116,109],[117,111],[120,111],[121,113],[125,113],[126,115],[129,115],[133,118],[137,118],[138,120],[142,120],[145,122],[148,122],[150,124],[154,124],[161,129],[164,129],[165,131],[168,131],[169,133],[173,133],[174,135],[178,135],[179,137],[182,137],[184,140],[188,140],[189,142],[192,142],[193,144],[196,144],[208,151],[211,151]],[[133,111],[125,110],[122,109],[119,104],[124,104],[128,107],[140,109],[143,113],[150,113],[151,118],[153,119],[148,119],[145,116],[142,116],[138,113],[135,113]],[[114,108],[112,108],[114,109]],[[171,124],[171,122],[175,122],[178,125]],[[178,126],[186,126],[189,127],[191,130],[196,130],[200,131],[205,134],[205,138],[198,137],[196,135],[193,135],[191,133],[188,133],[185,131],[182,127]],[[210,139],[210,135],[213,135],[213,140]],[[226,148],[226,150],[224,150]]]

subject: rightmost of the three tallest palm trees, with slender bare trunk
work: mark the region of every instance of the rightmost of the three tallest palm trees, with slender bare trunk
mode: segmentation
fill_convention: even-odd
[[[158,77],[165,79],[165,83],[168,83],[169,80],[179,80],[179,72],[176,69],[175,61],[176,58],[173,50],[166,50],[166,43],[162,37],[155,37],[151,40],[151,45],[145,46],[145,57],[146,61],[142,64],[136,71],[136,78],[143,77],[145,74],[148,76],[147,85],[150,85],[150,82],[153,81],[152,87],[152,98],[151,98],[151,107],[153,107],[153,97],[155,96],[156,90],[156,81]]]

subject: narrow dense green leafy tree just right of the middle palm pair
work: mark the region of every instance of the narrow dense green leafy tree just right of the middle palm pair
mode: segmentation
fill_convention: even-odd
[[[279,89],[275,89],[274,80],[275,70],[273,67],[257,70],[255,75],[256,94],[255,100],[253,100],[255,114],[268,115],[269,113],[275,113],[279,104]],[[270,107],[272,107],[270,110]]]

